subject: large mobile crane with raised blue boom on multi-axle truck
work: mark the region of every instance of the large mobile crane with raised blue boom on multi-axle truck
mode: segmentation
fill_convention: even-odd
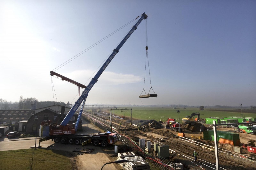
[[[140,17],[140,18],[139,18]],[[139,18],[139,19],[138,19]],[[76,130],[78,128],[79,121],[82,116],[82,112],[84,109],[84,104],[86,101],[86,98],[88,96],[88,93],[92,89],[92,87],[95,85],[95,83],[98,81],[98,78],[103,73],[103,71],[107,68],[109,63],[113,60],[113,58],[116,56],[116,54],[119,52],[120,48],[124,45],[124,43],[127,41],[127,39],[131,36],[131,34],[137,29],[139,24],[142,22],[143,19],[148,18],[148,16],[143,13],[141,16],[138,16],[136,19],[138,21],[134,26],[132,26],[131,30],[124,36],[123,40],[118,44],[118,46],[113,50],[111,55],[108,57],[108,59],[103,63],[99,71],[95,74],[95,76],[92,78],[90,83],[85,87],[84,91],[82,92],[81,96],[79,96],[78,100],[74,104],[74,106],[70,109],[66,117],[63,119],[63,121],[60,123],[60,125],[50,125],[50,136],[45,137],[43,139],[39,140],[39,146],[40,142],[44,140],[52,139],[55,143],[61,142],[72,144],[75,142],[76,144],[82,144],[84,141],[91,141],[94,145],[98,145],[101,143],[103,146],[105,142],[114,144],[117,140],[116,134],[112,133],[99,133],[98,135],[88,136],[88,135],[78,135],[76,134]],[[50,72],[51,75],[54,75],[53,72]],[[76,110],[80,107],[82,104],[82,107],[80,109],[80,112],[78,114],[78,118],[76,123],[68,124],[68,122],[71,120],[73,115],[76,113]]]

